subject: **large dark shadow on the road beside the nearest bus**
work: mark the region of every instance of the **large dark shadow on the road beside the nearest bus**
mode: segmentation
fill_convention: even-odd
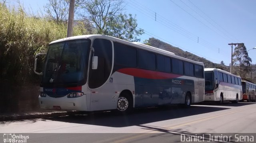
[[[136,109],[131,114],[118,114],[117,112],[98,112],[90,114],[77,114],[44,118],[52,121],[63,121],[68,123],[81,123],[89,125],[100,125],[108,127],[127,127],[142,125],[156,121],[182,118],[209,112],[216,112],[230,108],[191,106],[191,108],[180,108],[178,106]],[[44,120],[42,119],[42,120]]]

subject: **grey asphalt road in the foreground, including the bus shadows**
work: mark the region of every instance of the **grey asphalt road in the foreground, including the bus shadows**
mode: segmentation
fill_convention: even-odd
[[[247,135],[249,138],[246,141],[252,141],[249,139],[254,135],[255,141],[256,104],[200,104],[191,108],[170,106],[137,109],[127,115],[97,112],[2,121],[0,132],[28,133],[31,137],[27,142],[180,142],[192,135],[203,134],[209,138],[209,135],[218,133],[232,136],[232,139],[236,139],[232,133]],[[186,137],[182,138],[181,134]]]

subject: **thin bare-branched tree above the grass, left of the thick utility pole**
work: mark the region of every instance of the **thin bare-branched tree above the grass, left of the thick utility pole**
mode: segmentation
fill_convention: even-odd
[[[44,6],[47,16],[56,23],[68,21],[69,0],[48,0]]]

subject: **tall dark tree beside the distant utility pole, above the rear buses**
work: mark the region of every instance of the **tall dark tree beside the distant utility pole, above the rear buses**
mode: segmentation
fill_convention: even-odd
[[[250,72],[250,62],[252,62],[252,59],[248,56],[245,45],[238,45],[234,49],[233,63],[234,69],[241,77],[246,77],[246,74]]]

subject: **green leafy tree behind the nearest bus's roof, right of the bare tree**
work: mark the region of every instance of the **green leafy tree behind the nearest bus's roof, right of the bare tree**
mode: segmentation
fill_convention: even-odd
[[[132,17],[129,14],[129,18],[126,14],[119,14],[115,18],[110,18],[106,23],[106,35],[124,39],[126,41],[138,42],[140,39],[137,38],[138,35],[144,33],[143,29],[138,29],[136,16]]]

